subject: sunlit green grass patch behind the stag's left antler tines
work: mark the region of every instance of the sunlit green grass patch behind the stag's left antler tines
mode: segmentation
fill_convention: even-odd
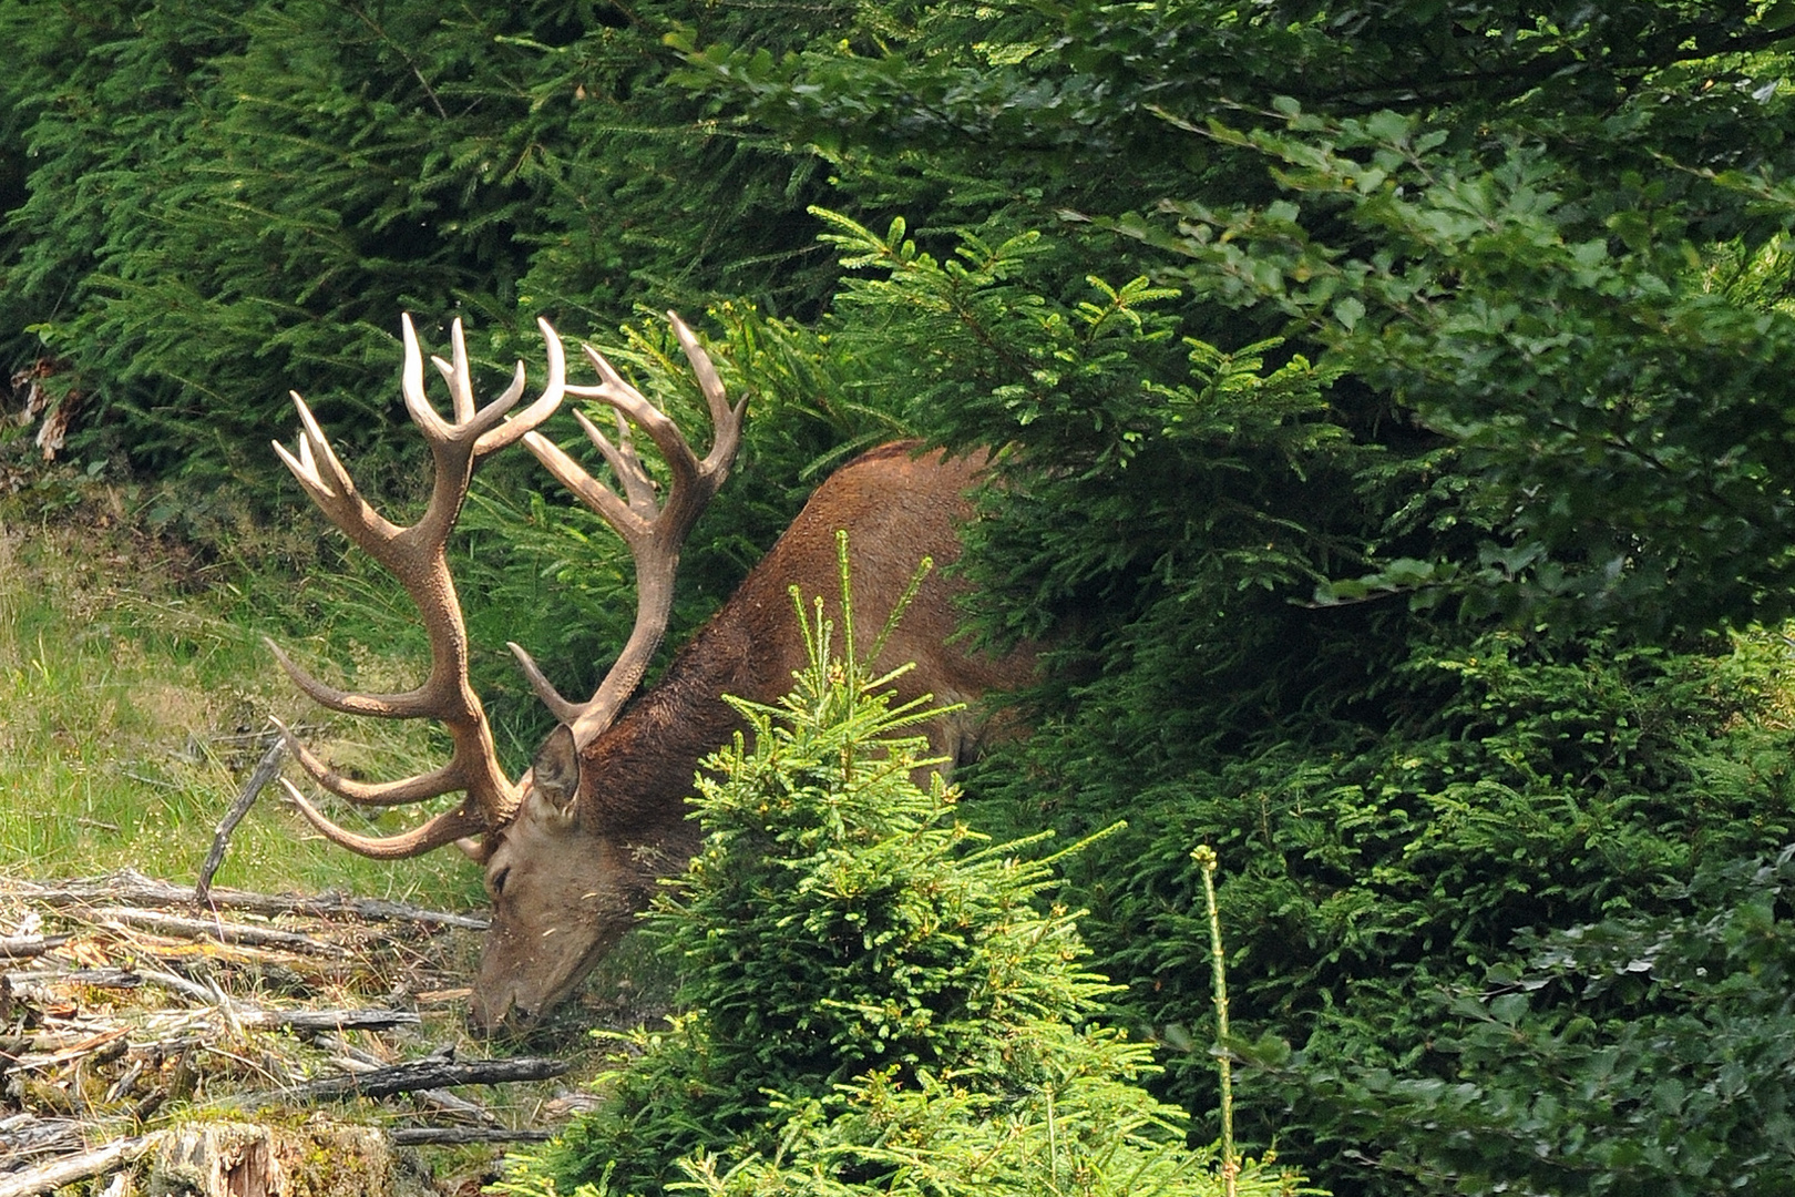
[[[0,508],[0,870],[66,878],[129,865],[192,879],[271,712],[312,725],[307,738],[332,759],[370,773],[413,772],[433,756],[433,732],[416,723],[323,721],[262,646],[264,632],[285,633],[284,612],[258,610],[248,583],[190,585],[180,553],[106,522],[104,508],[57,524]],[[343,653],[363,682],[422,669],[364,644]],[[406,820],[390,815],[381,829]],[[483,904],[460,854],[355,858],[275,790],[237,829],[215,881]]]

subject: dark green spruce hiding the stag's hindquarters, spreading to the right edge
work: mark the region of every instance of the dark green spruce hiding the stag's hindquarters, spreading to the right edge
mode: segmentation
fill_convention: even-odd
[[[1129,982],[1120,1018],[1167,1046],[1156,1093],[1190,1111],[1215,1104],[1188,1050],[1210,994],[1188,852],[1213,843],[1237,1030],[1301,1066],[1246,1086],[1244,1136],[1282,1132],[1335,1192],[1454,1192],[1402,1165],[1432,1158],[1422,1118],[1319,1079],[1467,1082],[1438,994],[1524,967],[1522,933],[1668,915],[1698,869],[1786,843],[1786,646],[1461,619],[1393,576],[1346,596],[1328,580],[1379,558],[1418,576],[1440,546],[1475,556],[1459,450],[1289,346],[1181,336],[1165,287],[1070,303],[1032,269],[1038,240],[968,235],[935,258],[901,230],[836,228],[874,275],[838,336],[890,354],[921,427],[1012,445],[966,569],[994,633],[1050,628],[1066,666],[1036,734],[966,779],[968,818],[1081,836],[1127,817],[1066,863],[1068,892]],[[1576,1012],[1563,989],[1537,1003]],[[1510,1084],[1499,1066],[1477,1084]]]

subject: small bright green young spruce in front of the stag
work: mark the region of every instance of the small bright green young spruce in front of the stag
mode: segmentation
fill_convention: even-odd
[[[648,917],[686,1012],[630,1035],[605,1105],[506,1192],[1221,1193],[1140,1086],[1151,1050],[1097,1021],[1111,987],[1050,863],[919,788],[930,712],[808,628],[793,695],[743,703],[707,763],[704,849]],[[1248,1165],[1240,1192],[1298,1179]]]

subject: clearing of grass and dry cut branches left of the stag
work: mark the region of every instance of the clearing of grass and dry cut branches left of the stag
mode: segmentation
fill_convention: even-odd
[[[208,564],[99,485],[23,510],[0,499],[0,1192],[48,1192],[31,1184],[57,1166],[163,1183],[183,1152],[244,1184],[246,1134],[316,1192],[337,1190],[294,1168],[318,1159],[361,1170],[328,1179],[343,1192],[477,1192],[508,1145],[589,1105],[583,1032],[655,1018],[655,964],[625,949],[530,1037],[474,1037],[485,897],[461,854],[363,860],[269,786],[192,901],[271,712],[370,772],[434,750],[431,729],[325,725],[293,693],[262,635],[293,639],[305,578]],[[341,632],[363,680],[420,668]],[[355,1088],[407,1068],[451,1071]]]

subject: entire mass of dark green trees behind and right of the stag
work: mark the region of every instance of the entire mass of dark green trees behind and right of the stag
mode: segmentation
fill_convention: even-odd
[[[1163,1097],[1215,1102],[1212,842],[1246,1134],[1335,1192],[1786,1175],[1795,5],[0,29],[13,409],[66,411],[61,459],[149,524],[224,560],[293,502],[258,447],[289,386],[415,488],[368,386],[400,307],[463,312],[494,366],[551,314],[671,386],[659,334],[612,330],[709,303],[757,440],[682,626],[851,447],[1003,447],[975,630],[1054,668],[962,811],[1129,813],[1066,892]],[[9,470],[27,445],[0,434]],[[625,571],[506,468],[468,544],[524,551],[468,553],[476,639],[601,657]]]

